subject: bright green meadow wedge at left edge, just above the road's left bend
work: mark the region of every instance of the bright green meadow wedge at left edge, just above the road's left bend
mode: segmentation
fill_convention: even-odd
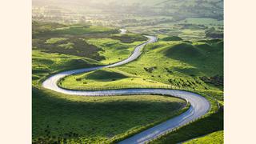
[[[36,86],[40,80],[63,70],[74,70],[100,65],[90,58],[82,58],[67,54],[49,54],[40,50],[32,50],[32,82]]]

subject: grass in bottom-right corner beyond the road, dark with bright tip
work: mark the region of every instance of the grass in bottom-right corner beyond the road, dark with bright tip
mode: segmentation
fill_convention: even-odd
[[[223,107],[221,107],[216,113],[210,114],[206,118],[201,118],[190,125],[183,126],[182,128],[150,143],[223,143],[223,124]],[[216,131],[222,132],[212,134]],[[187,142],[187,140],[190,139],[193,140]]]

